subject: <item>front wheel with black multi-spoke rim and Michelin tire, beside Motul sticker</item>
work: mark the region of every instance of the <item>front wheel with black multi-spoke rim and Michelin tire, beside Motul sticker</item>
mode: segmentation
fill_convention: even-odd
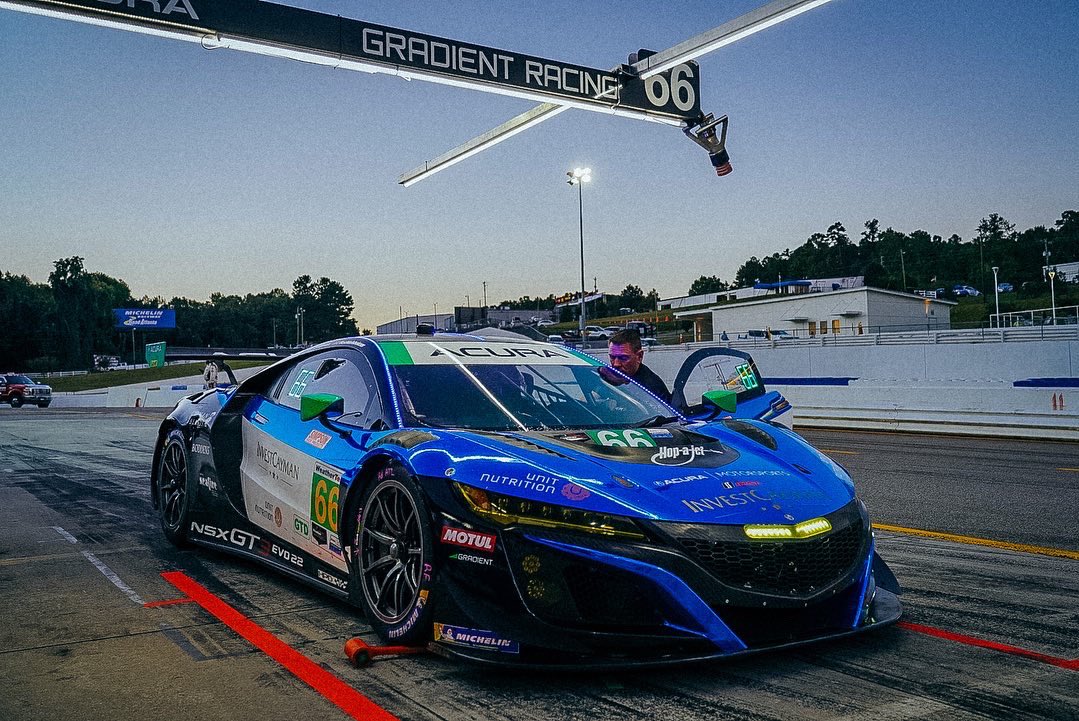
[[[381,468],[359,503],[349,583],[359,584],[364,614],[384,641],[431,638],[434,548],[423,491],[400,464]]]

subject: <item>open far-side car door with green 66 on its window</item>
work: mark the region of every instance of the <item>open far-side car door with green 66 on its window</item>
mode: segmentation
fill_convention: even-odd
[[[672,405],[694,420],[747,418],[793,424],[791,404],[778,391],[764,387],[750,354],[729,348],[691,353],[679,368],[671,396]]]

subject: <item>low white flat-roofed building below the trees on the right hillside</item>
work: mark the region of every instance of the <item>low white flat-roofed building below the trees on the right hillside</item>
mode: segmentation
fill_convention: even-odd
[[[783,330],[798,337],[862,335],[902,330],[945,330],[951,300],[921,298],[882,288],[802,293],[675,313],[697,324],[696,340],[723,340],[750,330]]]

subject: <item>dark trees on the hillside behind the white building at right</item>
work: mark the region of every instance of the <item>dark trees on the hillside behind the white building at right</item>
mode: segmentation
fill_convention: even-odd
[[[874,218],[865,221],[856,243],[842,222],[834,222],[793,250],[751,257],[738,268],[732,284],[715,275],[701,275],[687,295],[755,283],[853,275],[864,275],[865,285],[891,290],[951,289],[961,284],[992,294],[993,267],[998,268],[999,282],[1011,283],[1019,290],[1024,283],[1044,283],[1041,269],[1047,251],[1049,264],[1079,260],[1079,213],[1065,210],[1052,228],[1037,226],[1022,232],[994,213],[979,222],[969,241],[957,234],[943,239],[924,230],[880,230]]]

